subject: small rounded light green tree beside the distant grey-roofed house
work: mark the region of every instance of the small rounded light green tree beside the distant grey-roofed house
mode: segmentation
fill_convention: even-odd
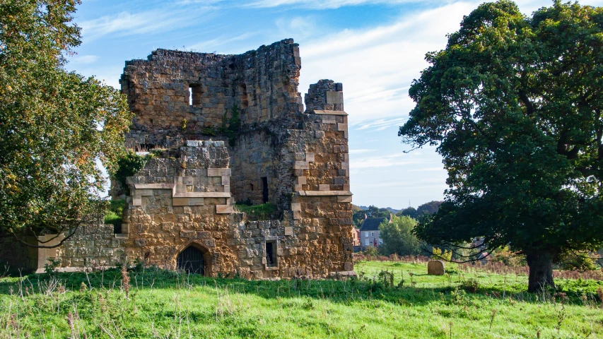
[[[416,256],[421,254],[423,243],[412,232],[415,225],[416,220],[406,216],[394,216],[392,222],[382,222],[379,225],[379,236],[383,239],[383,244],[379,246],[379,251],[385,256],[391,254]]]

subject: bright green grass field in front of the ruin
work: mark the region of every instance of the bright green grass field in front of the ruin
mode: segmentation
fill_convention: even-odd
[[[129,288],[117,269],[0,278],[0,338],[603,338],[600,281],[530,295],[522,274],[428,276],[426,263],[392,261],[356,272],[248,281],[146,269]]]

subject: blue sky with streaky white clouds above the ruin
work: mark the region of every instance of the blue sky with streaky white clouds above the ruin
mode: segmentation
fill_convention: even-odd
[[[414,102],[411,81],[445,35],[484,1],[83,0],[83,43],[67,68],[119,88],[124,61],[153,49],[240,54],[285,38],[300,44],[299,92],[324,78],[344,84],[356,205],[406,208],[441,200],[446,172],[434,148],[411,153],[397,136]],[[516,1],[532,13],[548,0]],[[603,0],[580,1],[602,6]]]

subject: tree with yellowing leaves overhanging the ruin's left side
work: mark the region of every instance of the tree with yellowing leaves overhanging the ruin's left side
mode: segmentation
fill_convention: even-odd
[[[97,161],[115,170],[131,121],[119,91],[64,70],[77,4],[0,2],[0,231],[21,242],[102,217]]]

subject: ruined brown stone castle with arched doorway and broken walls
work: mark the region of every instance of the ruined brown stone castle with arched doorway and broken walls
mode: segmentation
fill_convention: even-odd
[[[42,270],[144,261],[245,278],[353,274],[347,114],[341,83],[298,93],[298,44],[239,55],[157,49],[121,78],[128,148],[155,155],[127,187],[121,230],[80,227],[56,249],[0,238],[4,260]],[[235,203],[276,206],[240,213]],[[51,237],[51,236],[45,236]]]

